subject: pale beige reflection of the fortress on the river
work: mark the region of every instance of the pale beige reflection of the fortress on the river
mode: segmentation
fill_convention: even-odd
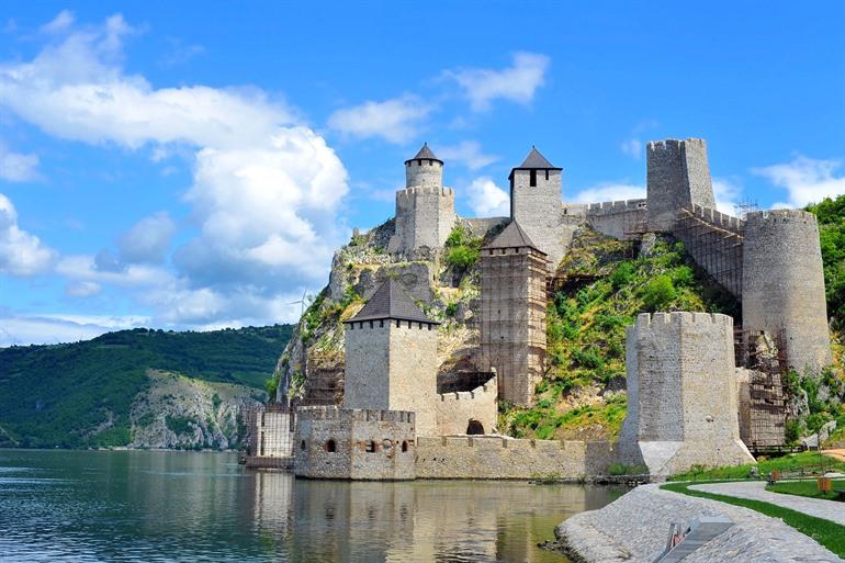
[[[522,483],[338,482],[256,472],[252,525],[288,561],[545,561],[561,519],[607,488]]]

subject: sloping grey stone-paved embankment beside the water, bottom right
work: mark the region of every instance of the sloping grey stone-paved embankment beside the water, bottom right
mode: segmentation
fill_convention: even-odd
[[[576,562],[651,563],[666,547],[671,522],[686,527],[701,516],[724,516],[731,529],[688,555],[685,563],[841,562],[813,539],[754,510],[642,485],[600,510],[581,513],[555,529]]]

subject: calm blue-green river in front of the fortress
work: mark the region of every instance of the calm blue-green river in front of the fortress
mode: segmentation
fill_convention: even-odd
[[[0,450],[0,561],[561,562],[537,543],[622,493],[296,481],[232,453]]]

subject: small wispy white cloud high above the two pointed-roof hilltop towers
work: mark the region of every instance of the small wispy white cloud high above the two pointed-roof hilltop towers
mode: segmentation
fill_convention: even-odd
[[[462,68],[449,70],[470,99],[473,111],[486,111],[494,100],[528,104],[545,83],[550,59],[537,53],[515,53],[514,64],[503,69]]]

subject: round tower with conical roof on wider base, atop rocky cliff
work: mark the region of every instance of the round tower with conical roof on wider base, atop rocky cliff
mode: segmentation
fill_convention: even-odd
[[[443,188],[443,161],[425,144],[414,158],[405,160],[405,189],[396,192],[395,235],[387,249],[440,248],[455,219],[454,192]]]

